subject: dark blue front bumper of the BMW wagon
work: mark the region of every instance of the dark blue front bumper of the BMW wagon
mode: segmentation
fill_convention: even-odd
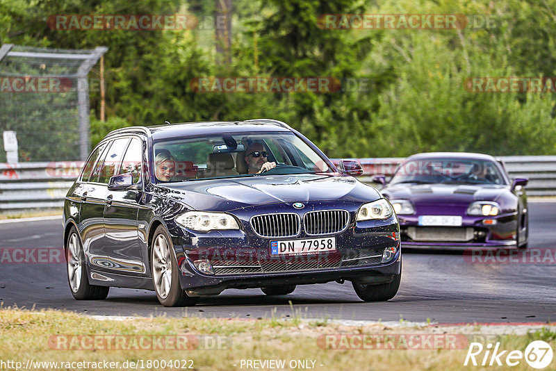
[[[324,205],[322,207],[327,207]],[[290,238],[264,238],[250,228],[250,214],[236,212],[243,224],[238,231],[199,233],[183,228],[170,229],[174,251],[181,270],[181,287],[190,295],[216,295],[226,288],[260,288],[277,285],[358,281],[383,283],[400,274],[401,249],[398,220],[353,222],[357,205],[344,205],[350,212],[347,228],[338,233],[310,236],[304,233]],[[277,211],[279,212],[279,211]],[[270,253],[275,240],[311,238],[336,239],[332,253],[300,256]],[[385,249],[395,249],[395,256],[382,263]],[[200,272],[194,262],[211,263],[213,274]]]

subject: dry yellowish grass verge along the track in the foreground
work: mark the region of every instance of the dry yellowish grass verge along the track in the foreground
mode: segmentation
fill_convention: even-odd
[[[423,339],[452,334],[464,336],[469,341],[473,338],[486,343],[500,342],[500,349],[523,352],[532,340],[544,340],[556,349],[554,327],[526,331],[522,335],[487,336],[488,331],[485,331],[483,336],[482,329],[476,326],[389,327],[380,322],[347,326],[329,320],[304,320],[293,314],[294,320],[197,317],[99,320],[63,311],[1,308],[0,361],[21,362],[24,367],[29,359],[35,362],[58,362],[57,365],[31,363],[33,370],[62,369],[64,365],[79,370],[185,370],[190,367],[195,370],[247,370],[254,369],[247,368],[247,361],[263,362],[271,359],[283,360],[284,367],[276,367],[280,363],[252,365],[263,370],[469,370],[470,367],[474,370],[506,370],[508,366],[505,363],[485,368],[464,366],[468,343],[458,345],[459,349],[325,349],[324,339],[333,336],[331,339],[335,340],[329,345],[343,344],[349,348],[350,339],[354,337],[391,336],[395,339],[399,336],[396,334],[401,333],[407,340],[411,336]],[[467,335],[462,335],[464,333]],[[186,338],[185,343],[182,341],[178,346],[176,336]],[[344,343],[338,340],[342,336],[347,339]],[[165,340],[162,345],[157,345],[154,338]],[[427,344],[434,344],[434,340],[433,343],[425,342]],[[391,345],[404,348],[400,340],[393,340]],[[370,346],[374,348],[376,343]],[[111,350],[107,350],[107,347],[111,347]],[[484,353],[477,356],[477,360],[482,361],[482,356]],[[158,363],[153,363],[154,360],[158,360]],[[501,360],[504,362],[505,356]],[[91,364],[75,363],[79,361]],[[115,368],[92,364],[104,361],[120,363]],[[126,361],[127,367],[124,364]],[[131,367],[131,361],[137,362],[137,367]],[[163,361],[165,367],[161,367]],[[169,361],[174,363],[170,365]],[[549,366],[546,370],[553,370],[555,364],[553,361],[552,368]],[[15,366],[15,363],[12,365]],[[261,367],[264,365],[266,367]],[[6,367],[8,364],[3,366],[9,369]],[[530,370],[530,367],[521,360],[512,370]]]

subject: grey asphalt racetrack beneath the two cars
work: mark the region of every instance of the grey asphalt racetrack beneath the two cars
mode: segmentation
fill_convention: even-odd
[[[529,211],[530,249],[556,249],[556,203],[530,202]],[[63,256],[59,263],[10,263],[3,251],[61,246],[61,217],[0,224],[0,302],[4,307],[35,306],[90,315],[288,318],[293,315],[293,304],[293,311],[304,318],[556,321],[556,262],[550,260],[540,264],[472,263],[461,252],[403,249],[402,283],[389,302],[361,302],[351,283],[334,282],[298,286],[292,294],[279,297],[267,297],[259,289],[224,290],[219,296],[202,298],[194,307],[165,308],[154,292],[125,288],[111,288],[106,300],[76,301],[70,294]],[[57,256],[51,258],[57,260]]]

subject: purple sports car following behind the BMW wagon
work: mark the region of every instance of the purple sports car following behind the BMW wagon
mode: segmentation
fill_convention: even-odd
[[[382,175],[373,181],[384,186],[406,247],[527,247],[528,179],[510,180],[492,156],[416,154],[388,183]]]

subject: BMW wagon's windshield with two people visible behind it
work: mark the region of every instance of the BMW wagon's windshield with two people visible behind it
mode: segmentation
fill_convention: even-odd
[[[331,172],[294,133],[240,133],[154,143],[157,183]]]

